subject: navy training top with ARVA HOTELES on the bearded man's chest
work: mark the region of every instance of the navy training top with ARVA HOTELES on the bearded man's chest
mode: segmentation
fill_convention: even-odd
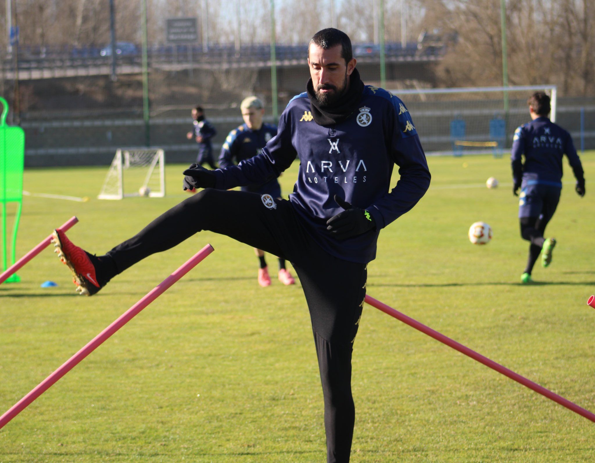
[[[296,155],[299,175],[289,195],[312,238],[340,259],[367,263],[376,256],[381,228],[408,212],[430,186],[430,171],[409,111],[384,89],[365,86],[352,114],[336,125],[320,126],[306,93],[281,114],[277,135],[258,156],[215,170],[216,188],[255,184],[280,175]],[[389,191],[393,166],[400,179]],[[343,211],[333,195],[367,209],[376,229],[339,241],[327,220]]]

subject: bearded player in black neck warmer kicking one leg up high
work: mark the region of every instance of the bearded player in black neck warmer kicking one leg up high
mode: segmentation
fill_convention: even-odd
[[[258,156],[215,171],[191,166],[184,171],[184,188],[205,189],[105,256],[92,256],[56,233],[64,259],[89,294],[139,260],[201,230],[290,260],[312,321],[327,461],[345,463],[355,421],[351,356],[367,264],[375,258],[380,230],[417,204],[430,185],[430,172],[407,108],[389,92],[362,83],[345,33],[318,32],[309,45],[308,64],[307,92],[289,102],[277,135]],[[296,155],[299,175],[289,200],[228,191],[278,177]],[[400,178],[391,189],[395,164]]]

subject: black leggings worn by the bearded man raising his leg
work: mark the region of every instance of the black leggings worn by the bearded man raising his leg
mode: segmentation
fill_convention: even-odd
[[[314,332],[324,393],[327,462],[348,462],[355,421],[351,355],[364,305],[366,265],[338,259],[318,246],[287,200],[271,203],[259,194],[210,188],[177,204],[108,256],[114,259],[118,273],[123,272],[202,230],[227,235],[292,262]]]

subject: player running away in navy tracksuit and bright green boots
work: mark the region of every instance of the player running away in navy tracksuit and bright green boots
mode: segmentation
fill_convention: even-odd
[[[555,238],[544,238],[546,225],[552,219],[562,189],[562,157],[568,162],[577,178],[576,191],[585,195],[583,166],[574,148],[570,133],[548,119],[550,97],[536,92],[527,101],[531,122],[515,130],[512,141],[513,193],[519,197],[519,220],[521,236],[530,241],[529,259],[521,282],[530,283],[531,271],[541,253],[541,265],[552,262]],[[521,156],[525,156],[525,163]]]

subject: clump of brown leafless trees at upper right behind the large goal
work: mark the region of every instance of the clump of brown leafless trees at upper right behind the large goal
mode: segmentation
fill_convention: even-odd
[[[498,2],[444,2],[435,24],[458,36],[441,62],[444,86],[501,85]],[[506,6],[510,85],[553,83],[562,95],[593,94],[595,0],[516,0]]]

